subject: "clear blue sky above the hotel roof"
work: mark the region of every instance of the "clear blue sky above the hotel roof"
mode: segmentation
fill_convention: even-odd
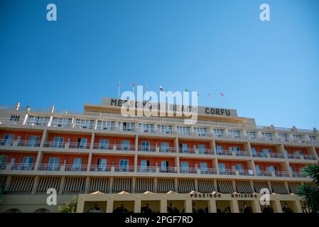
[[[55,3],[58,21],[46,20]],[[271,21],[259,20],[259,5]],[[319,128],[319,1],[0,1],[0,104],[82,110],[148,84]],[[212,92],[212,99],[208,97]],[[224,92],[225,96],[218,96]]]

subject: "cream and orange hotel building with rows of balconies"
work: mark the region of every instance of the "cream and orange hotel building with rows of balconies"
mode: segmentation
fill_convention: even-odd
[[[198,107],[198,121],[122,116],[121,101],[84,111],[0,106],[0,212],[57,212],[77,196],[77,212],[303,212],[296,195],[311,183],[318,131],[256,126],[234,109]]]

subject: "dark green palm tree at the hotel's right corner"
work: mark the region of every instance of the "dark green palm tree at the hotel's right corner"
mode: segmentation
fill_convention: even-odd
[[[303,196],[306,206],[310,208],[311,212],[319,212],[319,165],[307,165],[303,170],[304,174],[313,179],[313,185],[301,184],[298,195]]]

